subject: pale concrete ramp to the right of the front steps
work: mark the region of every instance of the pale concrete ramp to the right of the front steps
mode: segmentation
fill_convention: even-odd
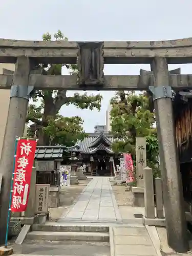
[[[157,256],[145,227],[113,227],[115,256]]]

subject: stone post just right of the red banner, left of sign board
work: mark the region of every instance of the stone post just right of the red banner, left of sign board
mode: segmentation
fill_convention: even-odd
[[[35,216],[35,193],[36,193],[36,168],[32,168],[31,183],[27,209],[25,211],[25,224],[33,224]]]

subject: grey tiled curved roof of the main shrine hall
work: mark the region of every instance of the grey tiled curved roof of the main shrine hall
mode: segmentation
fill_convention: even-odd
[[[68,151],[80,152],[84,154],[92,154],[93,150],[95,150],[95,148],[99,146],[97,143],[99,142],[101,136],[104,139],[104,141],[109,144],[109,146],[106,146],[106,145],[104,146],[110,150],[109,148],[110,145],[115,141],[115,138],[113,137],[113,135],[108,133],[91,133],[82,141],[79,140],[76,143],[76,145],[72,147],[68,147]],[[109,154],[113,154],[113,152],[110,150]]]

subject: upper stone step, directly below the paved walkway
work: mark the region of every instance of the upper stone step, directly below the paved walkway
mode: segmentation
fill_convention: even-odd
[[[109,232],[109,226],[101,225],[63,225],[63,224],[34,224],[32,231],[45,231],[45,232]]]

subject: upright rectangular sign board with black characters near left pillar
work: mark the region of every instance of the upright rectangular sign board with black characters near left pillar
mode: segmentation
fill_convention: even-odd
[[[49,184],[36,184],[35,214],[48,214]]]

